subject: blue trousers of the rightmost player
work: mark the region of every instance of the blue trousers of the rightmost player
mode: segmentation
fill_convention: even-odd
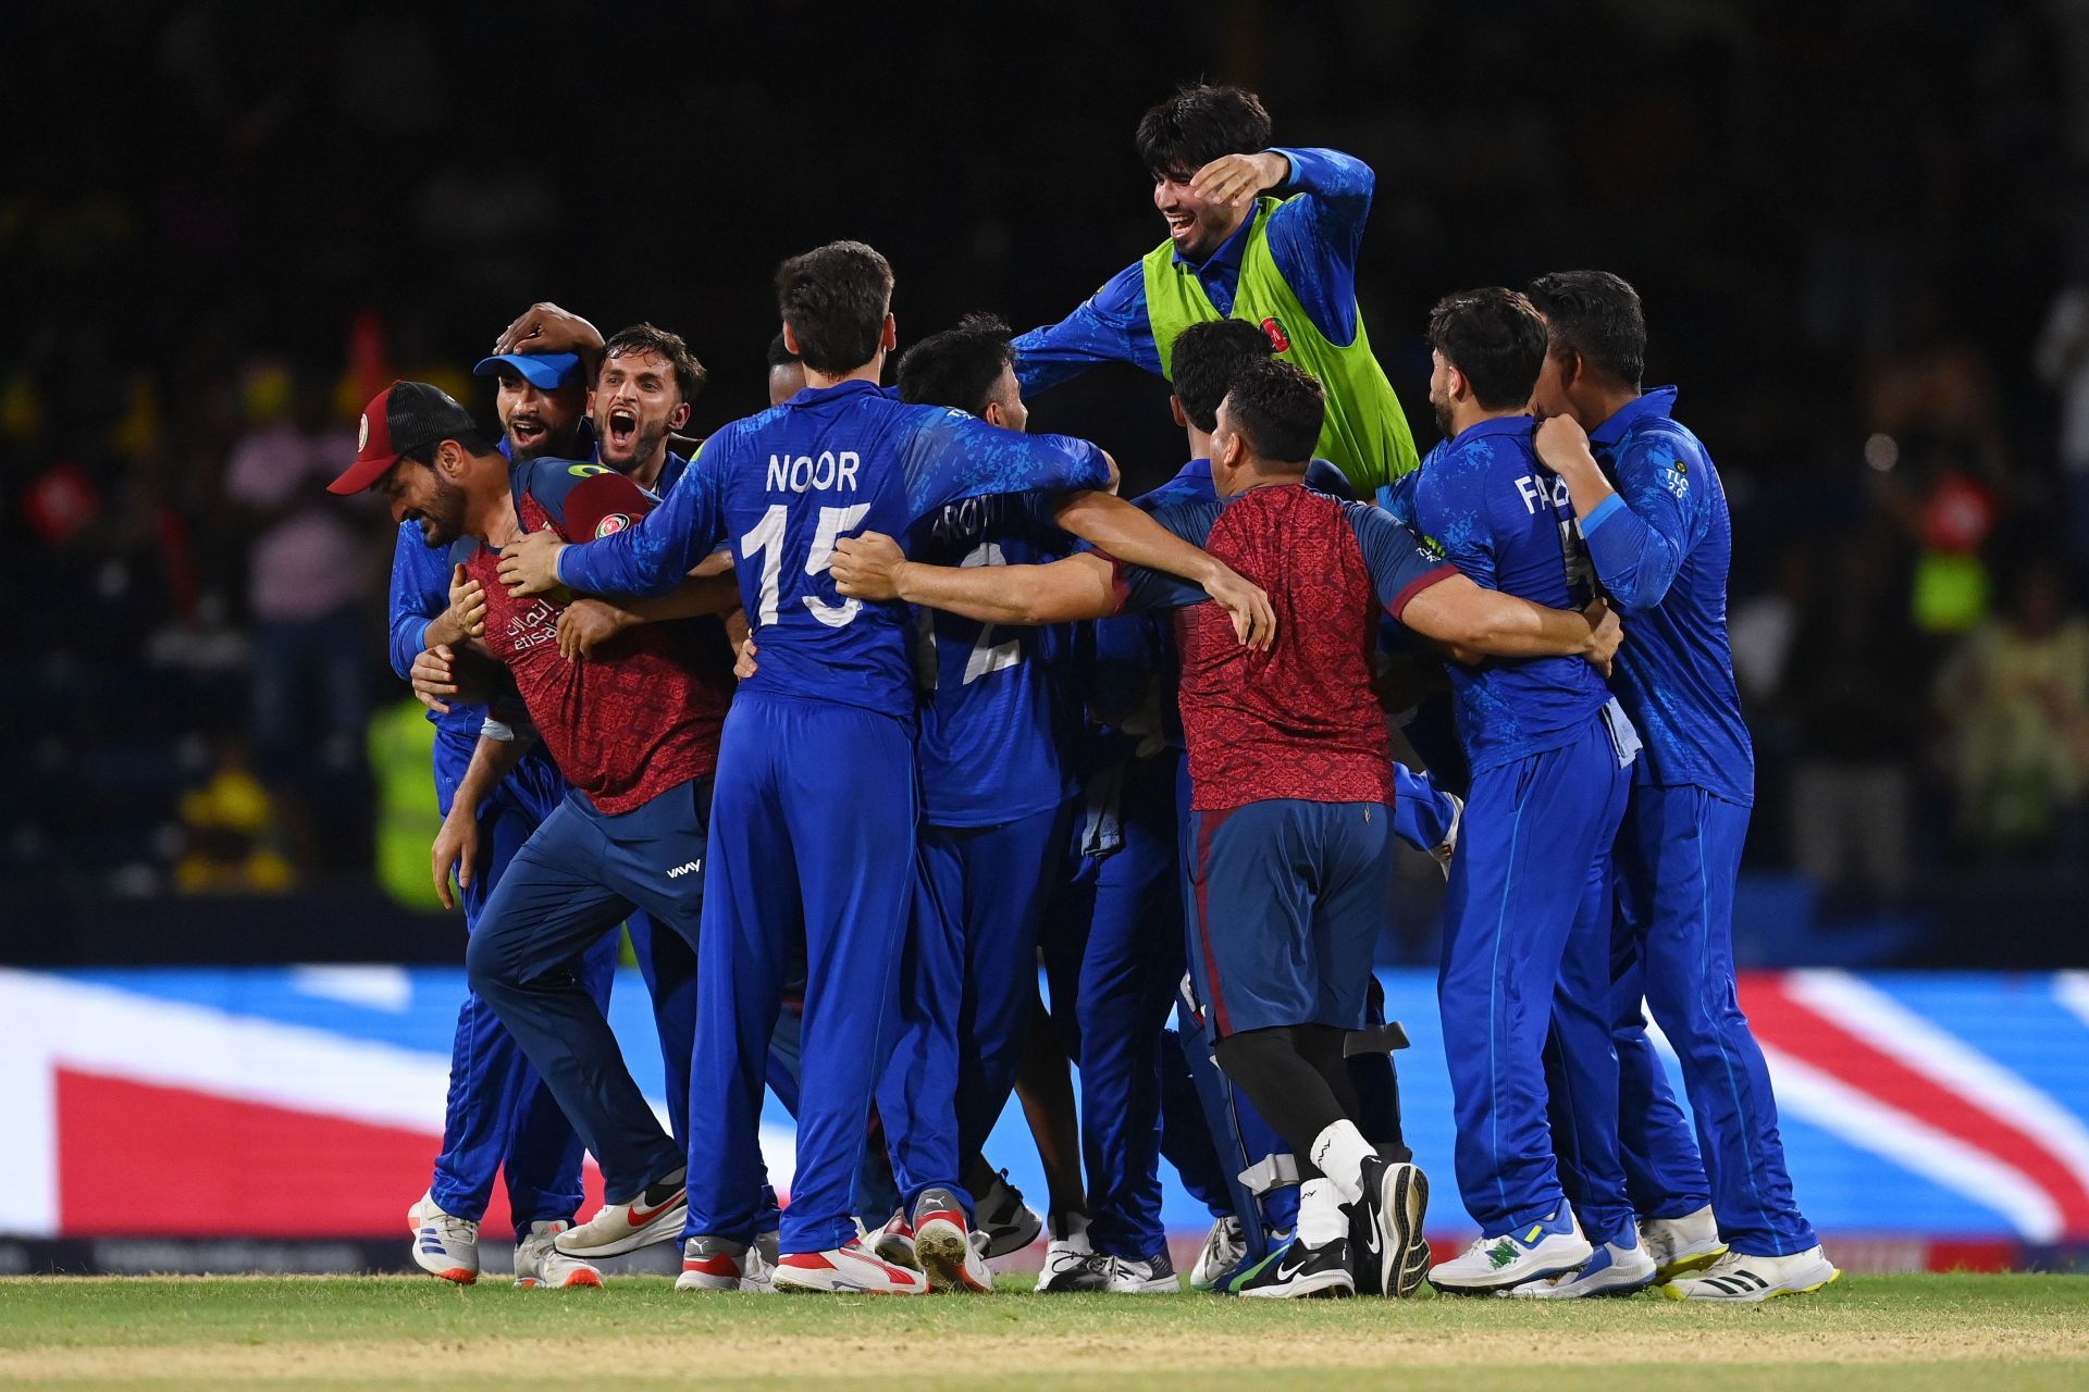
[[[1746,835],[1748,808],[1715,793],[1632,789],[1615,854],[1619,1133],[1642,1215],[1700,1208],[1709,1179],[1728,1246],[1788,1256],[1820,1238],[1792,1200],[1769,1069],[1734,993],[1734,881]],[[1682,1062],[1696,1144],[1646,1037],[1642,998]]]

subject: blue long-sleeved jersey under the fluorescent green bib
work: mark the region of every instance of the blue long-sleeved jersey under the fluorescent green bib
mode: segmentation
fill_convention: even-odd
[[[1291,161],[1291,177],[1274,192],[1306,196],[1287,198],[1268,215],[1270,255],[1314,328],[1333,344],[1354,342],[1356,257],[1364,244],[1377,175],[1370,165],[1341,150],[1278,146],[1272,152]],[[1197,282],[1222,315],[1233,313],[1251,227],[1253,217],[1197,267]],[[1182,261],[1182,253],[1176,253],[1176,261]],[[1015,376],[1026,392],[1057,386],[1097,363],[1132,363],[1155,376],[1161,371],[1141,261],[1103,282],[1101,290],[1059,323],[1034,328],[1015,340]]]

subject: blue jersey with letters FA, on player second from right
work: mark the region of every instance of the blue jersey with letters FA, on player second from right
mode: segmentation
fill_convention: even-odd
[[[1429,451],[1410,488],[1412,526],[1481,589],[1579,609],[1594,574],[1567,484],[1538,463],[1535,434],[1529,415],[1500,415]],[[1475,774],[1573,743],[1611,699],[1579,657],[1454,662],[1450,680]]]

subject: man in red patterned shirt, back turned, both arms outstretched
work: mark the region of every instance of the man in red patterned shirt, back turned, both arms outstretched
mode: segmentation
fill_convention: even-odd
[[[1471,651],[1594,653],[1615,624],[1492,595],[1431,561],[1387,513],[1304,486],[1324,415],[1320,386],[1258,363],[1226,392],[1212,436],[1216,497],[1155,520],[1251,572],[1278,607],[1268,653],[1228,641],[1195,586],[1080,553],[1053,566],[934,568],[890,538],[842,543],[840,586],[900,595],[992,622],[1101,618],[1174,607],[1189,743],[1191,973],[1218,1062],[1299,1156],[1299,1229],[1285,1258],[1237,1294],[1356,1288],[1370,1263],[1385,1294],[1421,1283],[1427,1179],[1387,1162],[1356,1125],[1343,1037],[1364,1025],[1370,956],[1391,895],[1391,751],[1370,689],[1370,632],[1385,609]],[[1301,872],[1304,868],[1304,872]],[[1352,1258],[1352,1208],[1366,1250]]]

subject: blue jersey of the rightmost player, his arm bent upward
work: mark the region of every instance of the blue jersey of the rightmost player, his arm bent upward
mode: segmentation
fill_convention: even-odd
[[[1675,388],[1646,392],[1590,436],[1617,495],[1581,524],[1625,643],[1611,676],[1640,728],[1636,783],[1755,797],[1755,753],[1740,718],[1726,634],[1734,524],[1719,470],[1669,411]]]

